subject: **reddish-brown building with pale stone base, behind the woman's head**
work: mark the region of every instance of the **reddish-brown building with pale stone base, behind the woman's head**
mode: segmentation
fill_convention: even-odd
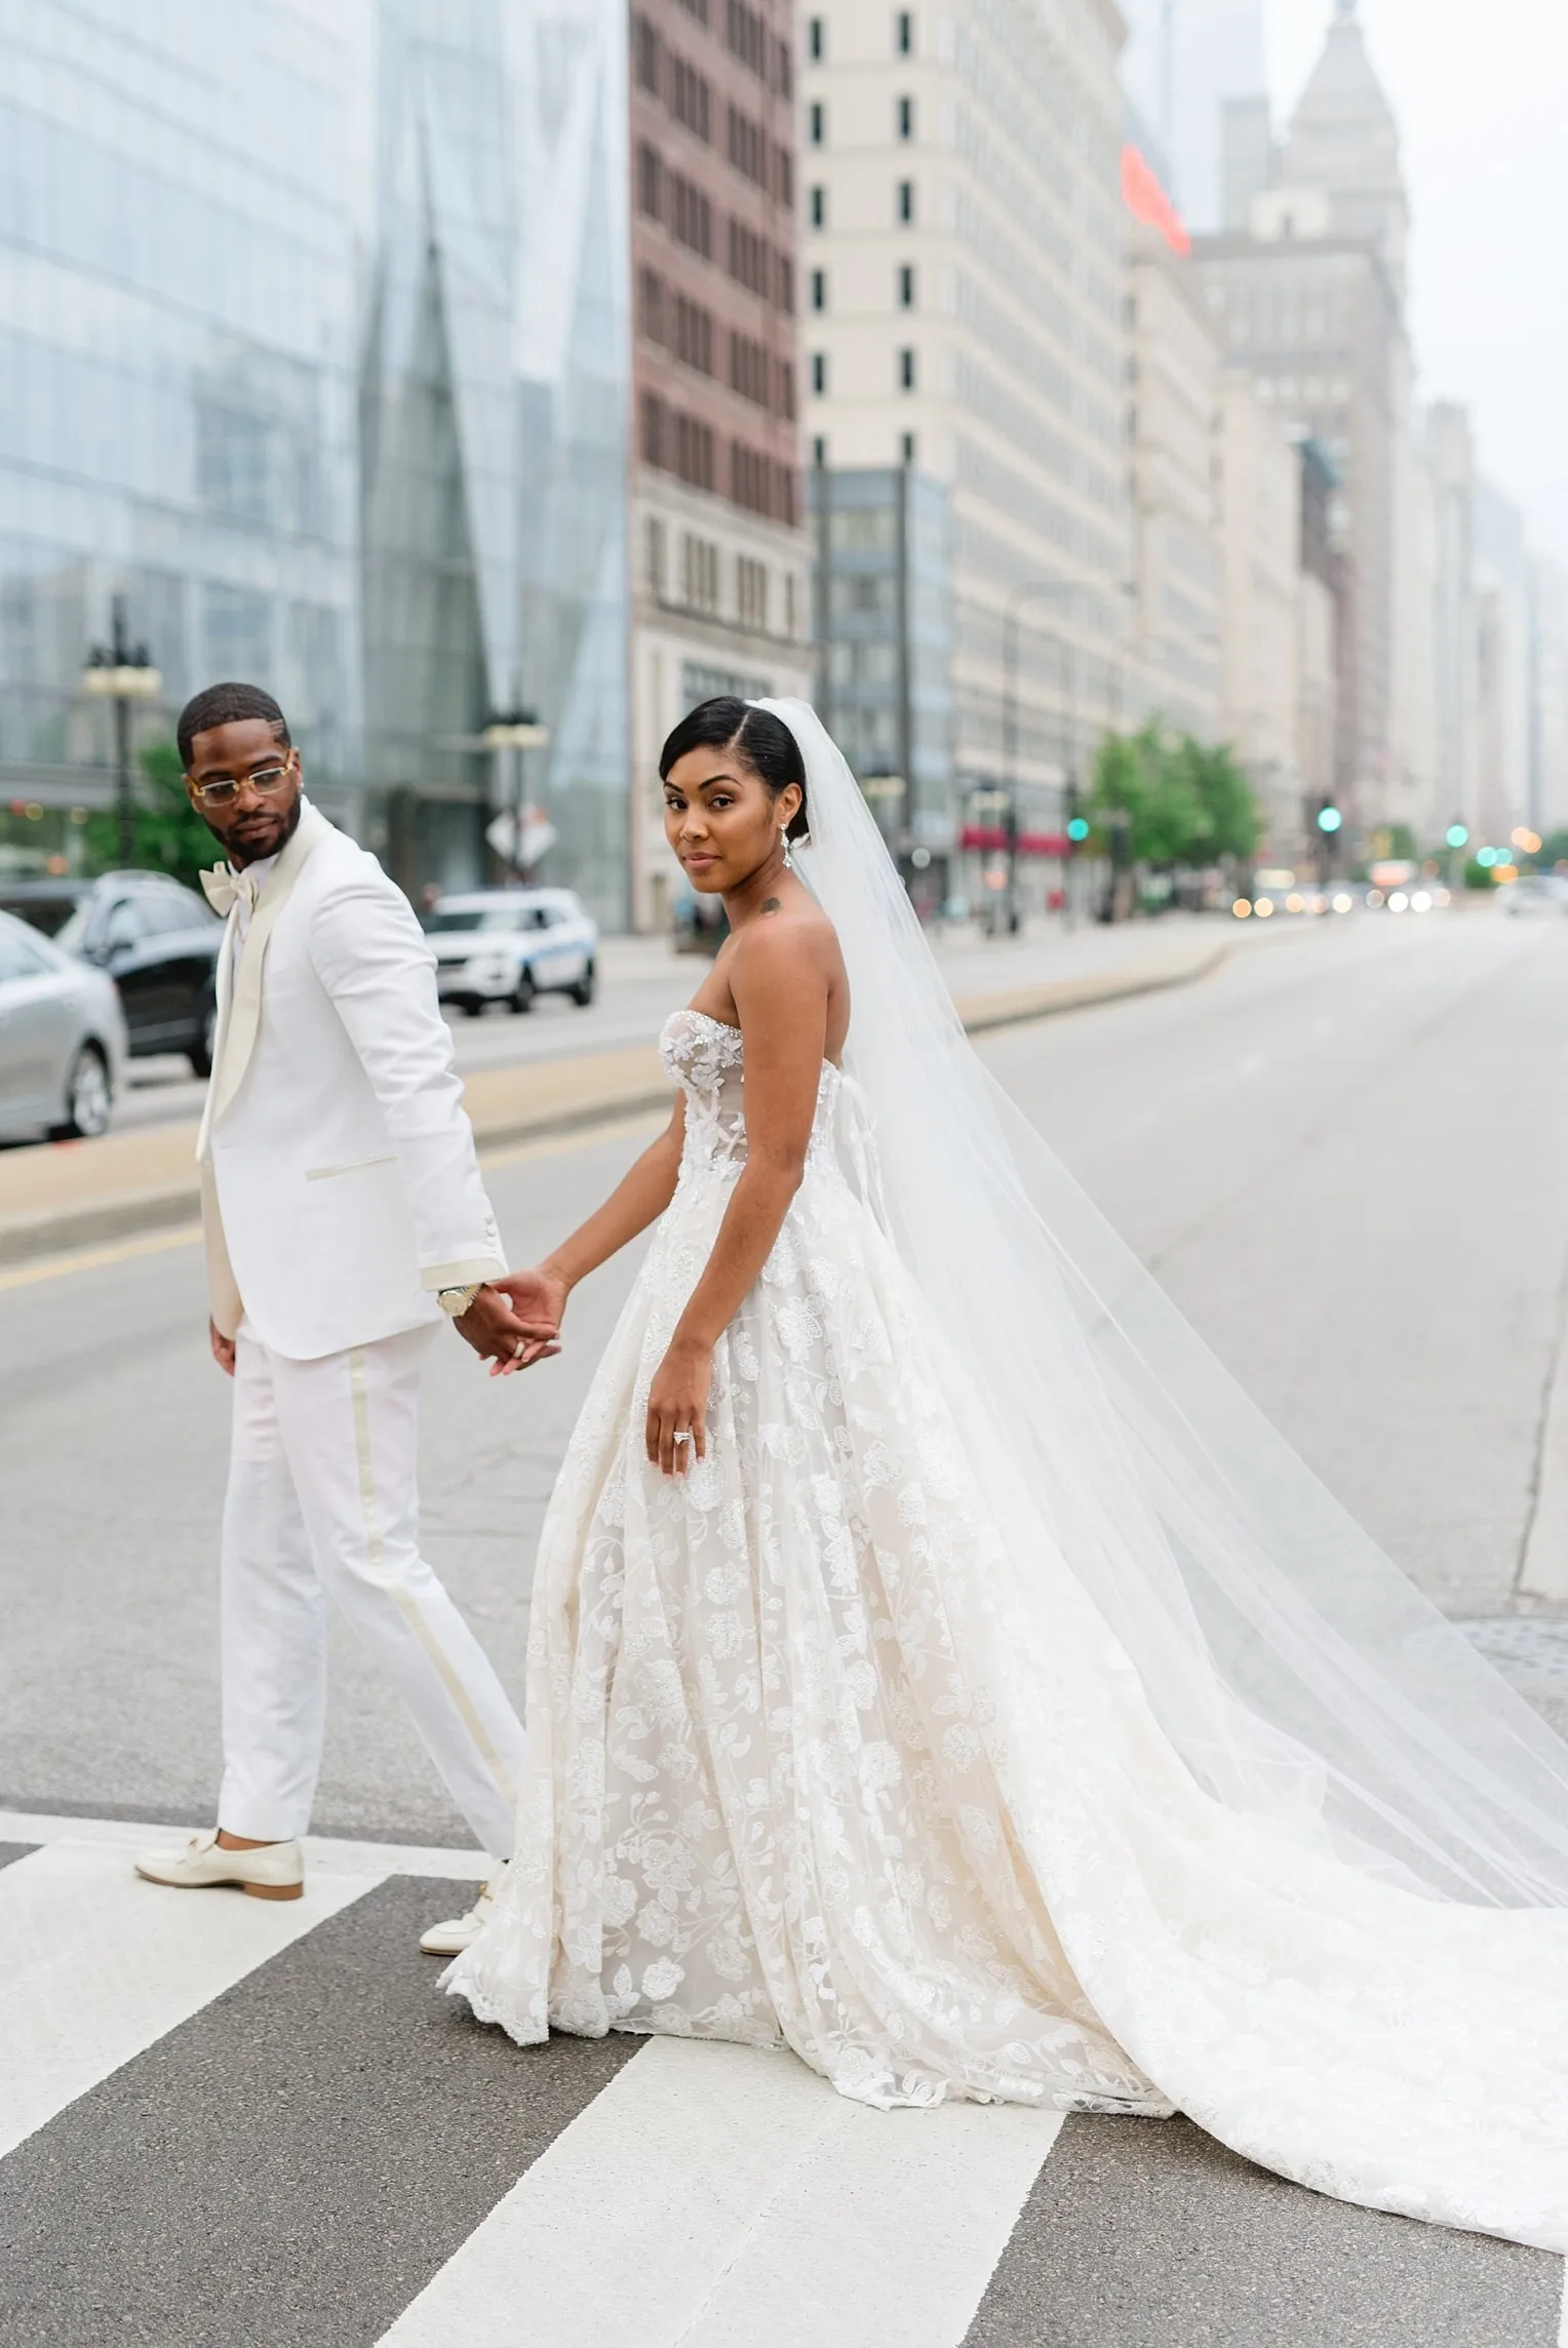
[[[660,742],[716,693],[810,693],[789,0],[631,16],[631,904],[662,925]]]

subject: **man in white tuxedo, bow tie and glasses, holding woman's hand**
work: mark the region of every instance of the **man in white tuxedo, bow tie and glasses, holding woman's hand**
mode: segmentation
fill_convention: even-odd
[[[197,1141],[211,1350],[235,1381],[223,1787],[214,1831],[136,1869],[298,1900],[326,1594],[505,1862],[523,1733],[418,1550],[418,1390],[444,1315],[498,1362],[554,1348],[488,1287],[500,1237],[408,902],[303,798],[268,693],[209,686],[178,744],[190,803],[228,852],[202,876],[228,930]],[[479,1921],[437,1925],[425,1946],[455,1954]]]

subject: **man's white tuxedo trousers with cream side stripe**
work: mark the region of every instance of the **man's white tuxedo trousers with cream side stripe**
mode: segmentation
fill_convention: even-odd
[[[246,1324],[223,1510],[218,1824],[284,1841],[310,1824],[326,1726],[326,1597],[408,1705],[446,1787],[512,1855],[523,1730],[418,1547],[418,1399],[432,1329],[293,1362]]]

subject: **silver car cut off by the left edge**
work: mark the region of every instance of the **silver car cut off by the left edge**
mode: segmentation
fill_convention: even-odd
[[[0,913],[0,1139],[89,1141],[124,1071],[115,981]]]

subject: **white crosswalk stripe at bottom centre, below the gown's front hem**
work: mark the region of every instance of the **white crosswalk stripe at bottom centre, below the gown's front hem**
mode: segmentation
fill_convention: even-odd
[[[958,2348],[1059,2125],[653,2038],[383,2348]]]

